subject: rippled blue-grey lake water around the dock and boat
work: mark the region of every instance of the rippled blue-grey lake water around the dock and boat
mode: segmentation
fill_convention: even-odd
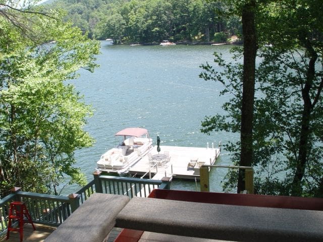
[[[76,152],[77,166],[93,178],[96,161],[116,145],[114,134],[127,127],[142,127],[163,145],[214,147],[235,141],[237,134],[200,132],[205,116],[222,113],[228,96],[219,96],[221,83],[204,81],[198,75],[201,64],[213,63],[213,52],[231,56],[232,46],[129,46],[101,41],[100,65],[94,73],[80,71],[73,80],[84,101],[95,109],[85,127],[96,140],[93,147]],[[155,145],[155,143],[154,143]],[[218,164],[230,164],[228,152],[222,150]],[[213,169],[211,191],[222,191],[221,180],[227,169]],[[198,185],[198,184],[197,184]],[[62,194],[75,192],[70,186]],[[196,191],[195,181],[176,180],[172,189]],[[199,185],[198,185],[199,189]]]

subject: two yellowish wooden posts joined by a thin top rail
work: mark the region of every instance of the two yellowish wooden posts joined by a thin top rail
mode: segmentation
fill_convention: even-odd
[[[209,192],[209,170],[212,167],[242,169],[244,170],[245,192],[253,194],[253,168],[251,166],[235,166],[235,165],[206,165],[200,167],[200,191]]]

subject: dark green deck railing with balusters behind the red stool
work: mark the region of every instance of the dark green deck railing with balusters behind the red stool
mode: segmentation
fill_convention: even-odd
[[[69,196],[55,196],[22,192],[14,188],[12,194],[0,200],[0,235],[7,231],[9,205],[13,201],[26,203],[33,222],[59,226],[93,193],[108,193],[133,197],[147,197],[155,189],[169,189],[170,181],[102,175],[94,172],[94,179]]]

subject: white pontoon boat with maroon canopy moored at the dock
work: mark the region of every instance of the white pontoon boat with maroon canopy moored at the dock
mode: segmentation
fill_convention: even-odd
[[[96,170],[123,175],[152,149],[152,139],[148,131],[142,128],[127,128],[115,136],[122,136],[123,140],[117,147],[101,155],[96,162]]]

